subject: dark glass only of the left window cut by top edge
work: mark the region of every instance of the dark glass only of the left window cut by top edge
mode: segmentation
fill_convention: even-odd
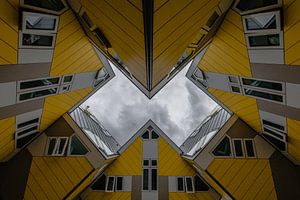
[[[54,11],[65,8],[61,0],[24,0],[24,4]]]

